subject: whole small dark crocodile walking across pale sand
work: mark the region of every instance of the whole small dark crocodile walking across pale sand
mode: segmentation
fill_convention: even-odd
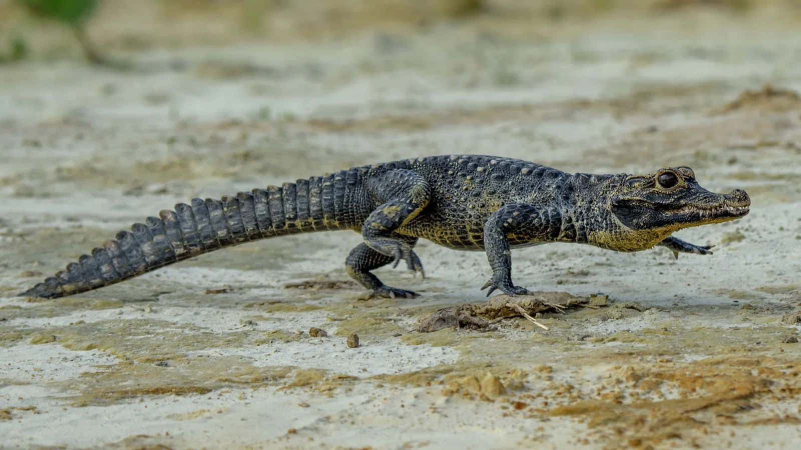
[[[373,294],[413,297],[372,270],[402,260],[423,273],[417,239],[458,250],[484,250],[493,275],[482,289],[525,294],[512,283],[510,248],[548,242],[588,243],[614,251],[661,245],[709,255],[670,234],[738,219],[745,191],[716,194],[690,167],[646,175],[567,174],[485,155],[440,155],[354,167],[220,200],[192,199],[175,211],[119,231],[20,295],[60,297],[118,283],[181,259],[248,241],[310,231],[353,230],[364,242],[345,259],[348,274]]]

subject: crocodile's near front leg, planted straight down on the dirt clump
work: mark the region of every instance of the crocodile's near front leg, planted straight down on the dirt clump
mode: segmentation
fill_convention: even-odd
[[[484,247],[493,277],[481,289],[489,287],[488,297],[496,289],[507,295],[528,294],[525,287],[512,283],[509,240],[518,244],[553,241],[561,231],[562,215],[555,209],[515,203],[493,212],[484,226]]]

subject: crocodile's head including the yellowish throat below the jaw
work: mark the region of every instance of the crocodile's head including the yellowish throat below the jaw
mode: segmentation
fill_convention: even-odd
[[[618,181],[601,196],[618,224],[590,233],[591,242],[618,251],[653,247],[682,228],[739,219],[751,206],[746,191],[718,194],[699,186],[690,167],[622,175]]]

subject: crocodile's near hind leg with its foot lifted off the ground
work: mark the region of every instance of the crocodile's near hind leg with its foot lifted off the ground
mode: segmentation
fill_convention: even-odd
[[[412,250],[417,239],[398,235],[396,230],[414,219],[429,203],[429,183],[414,171],[398,169],[369,179],[367,187],[376,203],[383,203],[364,221],[361,228],[364,243],[393,261],[392,267],[404,260],[410,271],[419,271],[425,276],[420,258]]]

